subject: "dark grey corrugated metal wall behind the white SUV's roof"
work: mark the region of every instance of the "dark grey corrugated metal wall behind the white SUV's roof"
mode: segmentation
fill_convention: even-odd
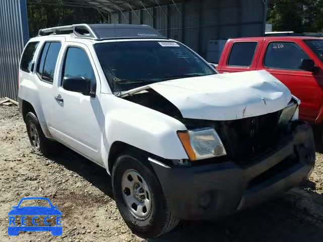
[[[173,4],[115,13],[112,23],[147,24],[179,40],[204,58],[210,39],[259,36],[264,33],[263,0],[183,0]],[[149,12],[149,13],[148,13]],[[128,17],[130,16],[130,17]]]

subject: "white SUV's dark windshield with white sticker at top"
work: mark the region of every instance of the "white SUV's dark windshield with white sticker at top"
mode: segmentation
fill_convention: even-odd
[[[113,92],[149,83],[217,74],[184,45],[173,41],[123,41],[94,46]]]

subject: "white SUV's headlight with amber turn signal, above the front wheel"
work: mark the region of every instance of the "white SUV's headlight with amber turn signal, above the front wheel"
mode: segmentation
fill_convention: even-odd
[[[190,160],[226,155],[222,141],[214,129],[205,128],[177,132]]]

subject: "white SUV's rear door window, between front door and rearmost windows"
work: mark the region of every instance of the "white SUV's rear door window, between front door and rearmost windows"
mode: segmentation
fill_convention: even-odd
[[[41,80],[50,83],[53,82],[61,46],[61,42],[46,42],[44,44],[36,70]]]

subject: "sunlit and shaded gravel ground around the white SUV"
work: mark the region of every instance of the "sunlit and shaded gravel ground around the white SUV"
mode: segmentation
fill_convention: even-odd
[[[323,155],[309,179],[258,207],[212,222],[183,221],[148,241],[323,241]],[[63,235],[9,236],[8,212],[23,197],[47,197],[63,213]],[[0,241],[145,241],[131,233],[113,200],[105,170],[60,146],[33,154],[17,106],[0,106]]]

